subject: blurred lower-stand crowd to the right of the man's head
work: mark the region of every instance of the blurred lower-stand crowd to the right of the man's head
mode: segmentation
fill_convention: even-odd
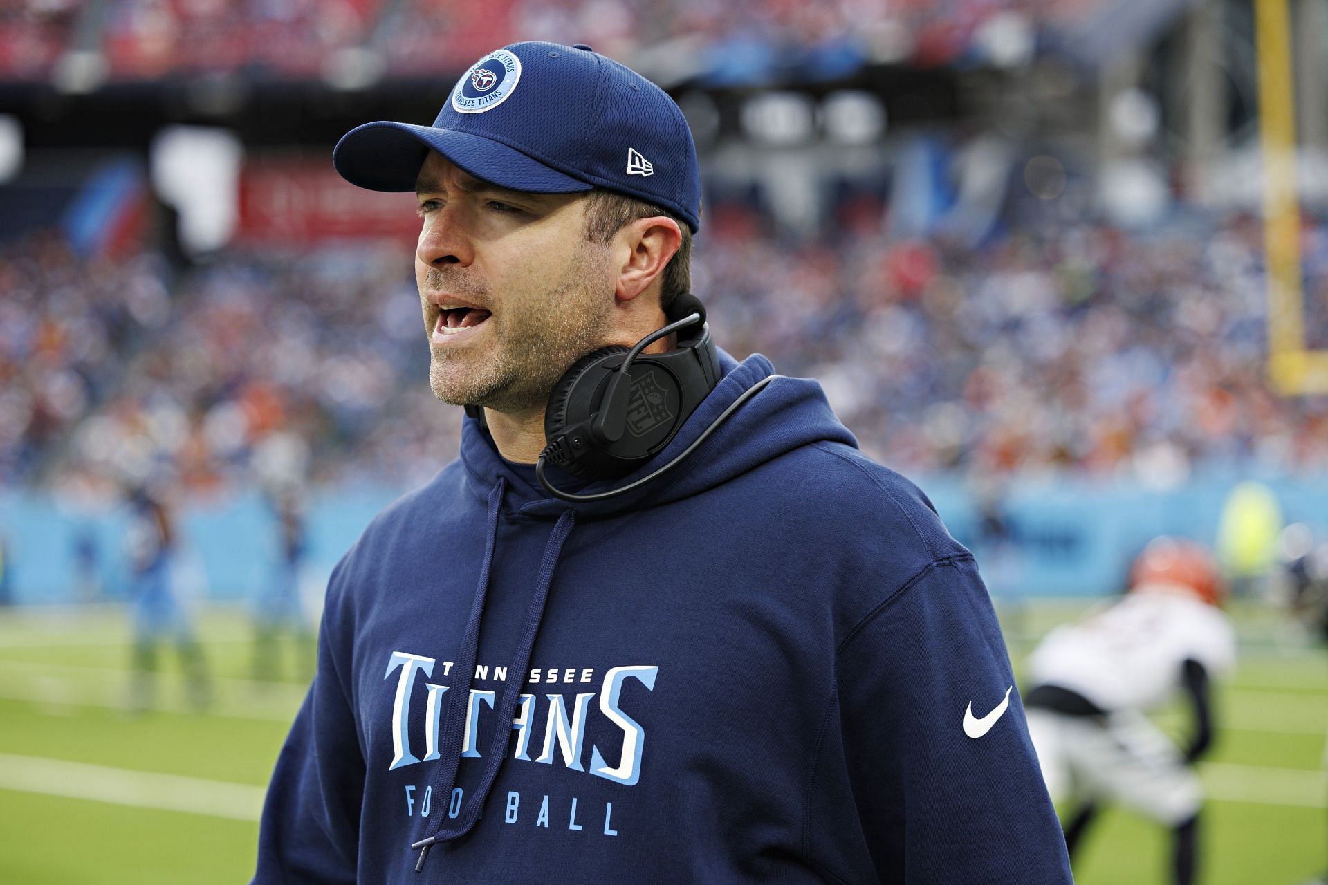
[[[833,245],[714,227],[701,288],[721,340],[819,377],[896,468],[1169,486],[1195,468],[1328,466],[1328,402],[1266,382],[1258,219],[1062,224],[976,249],[870,224]],[[1315,284],[1324,230],[1307,241]]]

